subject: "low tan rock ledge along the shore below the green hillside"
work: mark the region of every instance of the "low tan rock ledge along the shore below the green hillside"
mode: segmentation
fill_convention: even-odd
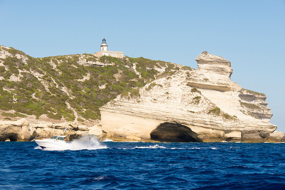
[[[67,128],[66,132],[64,129]],[[26,119],[17,121],[0,121],[0,141],[29,141],[32,136],[52,137],[55,135],[66,135],[68,140],[83,135],[101,136],[101,125],[97,124],[87,128],[86,125],[79,125],[75,122],[63,123],[31,123]]]

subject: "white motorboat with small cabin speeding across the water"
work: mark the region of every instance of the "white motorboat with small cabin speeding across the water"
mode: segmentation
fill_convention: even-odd
[[[71,146],[69,142],[66,142],[65,136],[48,137],[36,137],[32,141],[36,142],[40,148],[68,148]]]

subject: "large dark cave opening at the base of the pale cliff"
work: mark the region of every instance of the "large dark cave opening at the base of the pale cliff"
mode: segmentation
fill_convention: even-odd
[[[150,133],[150,139],[161,142],[202,142],[189,127],[170,122],[159,124]]]

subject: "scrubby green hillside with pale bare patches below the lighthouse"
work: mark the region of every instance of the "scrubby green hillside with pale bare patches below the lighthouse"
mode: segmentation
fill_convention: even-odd
[[[145,58],[76,54],[33,58],[0,46],[1,118],[94,122],[99,107],[159,75],[189,69]]]

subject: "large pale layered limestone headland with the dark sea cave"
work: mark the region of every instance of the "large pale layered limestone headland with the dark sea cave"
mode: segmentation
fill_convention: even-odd
[[[266,96],[232,82],[231,62],[207,52],[196,61],[197,70],[157,78],[101,107],[105,138],[250,142],[249,134],[258,134],[262,140],[251,142],[282,141],[284,134],[276,135],[277,126],[269,123],[272,113]]]

